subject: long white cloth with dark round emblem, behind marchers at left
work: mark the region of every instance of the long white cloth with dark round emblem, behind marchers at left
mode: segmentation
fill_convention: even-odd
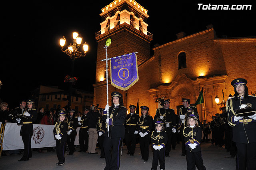
[[[56,142],[53,135],[54,125],[33,124],[34,134],[31,138],[31,148],[54,147]],[[24,149],[20,128],[16,123],[6,123],[4,129],[3,150]],[[79,145],[78,134],[80,127],[76,129],[75,145]]]

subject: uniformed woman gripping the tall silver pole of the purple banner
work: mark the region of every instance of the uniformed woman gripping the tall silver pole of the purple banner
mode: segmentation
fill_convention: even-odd
[[[125,133],[124,124],[126,122],[126,108],[123,104],[122,94],[119,92],[112,92],[111,96],[112,106],[109,107],[107,104],[103,112],[103,120],[106,121],[106,126],[109,125],[109,132],[104,133],[103,148],[106,160],[106,167],[104,170],[119,169],[120,145]],[[108,109],[109,117],[107,118]]]

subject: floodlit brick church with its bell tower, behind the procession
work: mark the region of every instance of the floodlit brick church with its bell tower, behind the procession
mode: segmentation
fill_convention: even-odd
[[[105,42],[111,38],[107,48],[108,58],[138,52],[139,81],[130,89],[121,91],[109,81],[109,94],[119,91],[124,96],[124,105],[145,105],[154,116],[159,107],[157,98],[170,99],[170,108],[178,113],[181,98],[190,98],[194,104],[200,90],[204,88],[205,104],[197,105],[200,120],[211,120],[220,113],[215,96],[227,100],[234,94],[230,82],[235,78],[248,80],[249,92],[256,91],[256,38],[218,38],[212,25],[206,30],[184,36],[153,48],[150,56],[152,34],[147,31],[147,10],[132,0],[116,0],[102,8],[101,31],[96,33],[98,53],[94,104],[106,105],[106,58]],[[254,64],[252,64],[254,63]],[[109,68],[108,68],[109,72]],[[109,76],[110,77],[110,76]],[[110,80],[110,79],[108,79]],[[109,101],[111,96],[109,95]]]

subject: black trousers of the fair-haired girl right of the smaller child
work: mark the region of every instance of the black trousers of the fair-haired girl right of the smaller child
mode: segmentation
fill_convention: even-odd
[[[188,170],[206,170],[202,159],[201,151],[190,152],[187,150],[187,166]]]

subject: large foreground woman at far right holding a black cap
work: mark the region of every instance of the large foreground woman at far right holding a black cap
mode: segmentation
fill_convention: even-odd
[[[233,141],[237,146],[239,170],[256,169],[256,96],[248,95],[247,80],[231,82],[234,96],[227,100],[228,124],[233,126]]]

